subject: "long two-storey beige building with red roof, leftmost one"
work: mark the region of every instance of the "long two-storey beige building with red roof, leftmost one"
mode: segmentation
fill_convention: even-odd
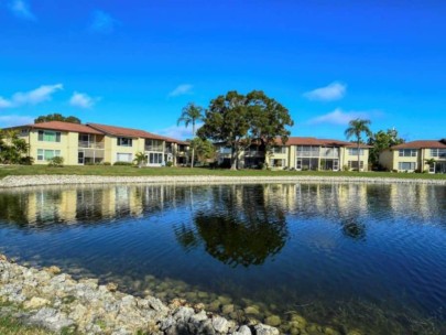
[[[144,130],[98,123],[50,121],[14,127],[29,144],[35,164],[62,156],[64,164],[133,162],[143,152],[148,166],[187,163],[188,143]]]

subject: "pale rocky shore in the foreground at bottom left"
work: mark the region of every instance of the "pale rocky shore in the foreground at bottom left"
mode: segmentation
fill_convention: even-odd
[[[75,280],[61,273],[57,267],[23,267],[3,255],[0,255],[0,315],[63,334],[280,333],[265,324],[237,324],[184,300],[174,299],[166,305],[151,295],[122,293],[113,283]]]

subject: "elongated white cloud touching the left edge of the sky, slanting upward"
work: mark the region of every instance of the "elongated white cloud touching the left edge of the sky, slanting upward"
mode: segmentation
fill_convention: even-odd
[[[0,108],[13,108],[48,101],[54,93],[63,88],[64,86],[62,84],[42,85],[33,90],[15,93],[10,99],[0,97]]]

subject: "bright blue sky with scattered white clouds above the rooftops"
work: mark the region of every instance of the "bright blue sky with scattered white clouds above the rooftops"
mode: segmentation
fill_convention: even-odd
[[[0,127],[39,115],[185,138],[189,101],[261,89],[293,136],[446,138],[446,1],[0,0]]]

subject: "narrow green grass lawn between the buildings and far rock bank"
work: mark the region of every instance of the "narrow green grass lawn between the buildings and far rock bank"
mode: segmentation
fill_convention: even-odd
[[[446,174],[427,173],[390,173],[390,172],[333,172],[333,171],[263,171],[240,170],[230,171],[207,168],[133,168],[133,166],[63,166],[50,168],[47,165],[2,165],[0,179],[7,175],[34,175],[34,174],[70,174],[70,175],[120,175],[120,176],[165,176],[165,175],[227,175],[227,176],[361,176],[361,177],[398,177],[398,179],[432,179],[446,180]]]

